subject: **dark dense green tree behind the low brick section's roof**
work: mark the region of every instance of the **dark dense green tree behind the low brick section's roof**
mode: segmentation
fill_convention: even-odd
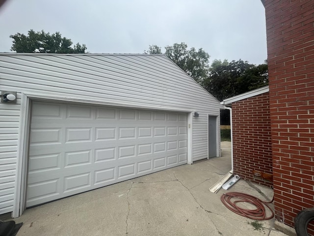
[[[214,60],[202,86],[219,101],[268,85],[267,64],[254,65],[239,59]]]

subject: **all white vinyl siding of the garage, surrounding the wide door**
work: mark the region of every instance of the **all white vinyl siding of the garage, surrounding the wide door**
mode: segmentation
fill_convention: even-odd
[[[0,190],[0,213],[11,211],[13,204],[9,184],[15,178],[21,93],[117,107],[197,111],[200,116],[193,117],[191,124],[193,161],[208,157],[208,115],[219,116],[222,108],[164,55],[0,54],[0,88],[17,91],[18,96],[17,104],[0,104],[0,161],[4,165],[0,187],[9,186]]]

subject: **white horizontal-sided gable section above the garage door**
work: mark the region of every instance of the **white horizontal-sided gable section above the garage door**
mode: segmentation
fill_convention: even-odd
[[[119,65],[121,58],[128,63],[128,67]],[[144,67],[139,64],[144,62],[136,60],[143,56],[132,56],[132,60],[129,58],[58,55],[1,57],[4,67],[1,70],[5,75],[1,85],[21,88],[22,92],[62,92],[78,98],[91,97],[93,92],[95,99],[105,98],[114,103],[140,102],[148,106],[164,106],[167,103],[181,109],[191,109],[197,105],[195,109],[211,108],[211,112],[217,114],[220,106],[218,101],[169,59],[147,56],[154,58],[155,63],[146,63]]]

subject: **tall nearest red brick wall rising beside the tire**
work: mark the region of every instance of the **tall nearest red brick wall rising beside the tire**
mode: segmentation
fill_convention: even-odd
[[[314,207],[314,0],[265,0],[275,213]]]

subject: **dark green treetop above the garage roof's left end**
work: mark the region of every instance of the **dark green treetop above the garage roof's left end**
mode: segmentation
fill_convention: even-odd
[[[27,35],[16,33],[10,38],[13,39],[11,51],[17,53],[86,53],[87,49],[85,44],[79,43],[72,47],[71,39],[62,37],[59,32],[50,34],[30,29]]]

